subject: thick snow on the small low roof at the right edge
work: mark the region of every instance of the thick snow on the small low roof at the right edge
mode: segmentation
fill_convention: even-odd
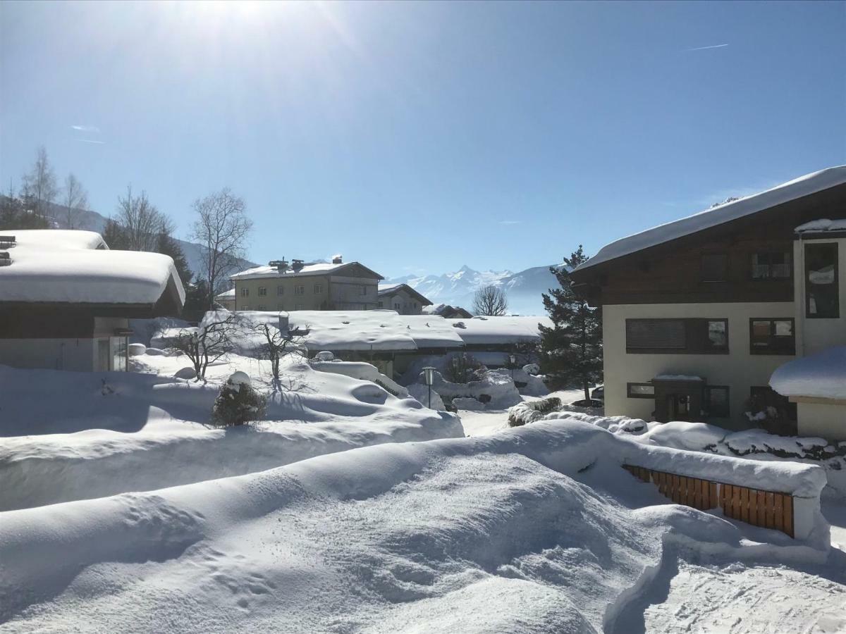
[[[846,399],[846,346],[784,363],[772,373],[770,387],[783,396]]]

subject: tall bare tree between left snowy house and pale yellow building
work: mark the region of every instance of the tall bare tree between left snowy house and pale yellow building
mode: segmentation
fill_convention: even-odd
[[[233,195],[228,188],[196,199],[191,238],[203,248],[201,276],[209,287],[209,309],[214,297],[222,292],[223,282],[236,261],[244,256],[244,245],[253,226],[245,213],[244,199]]]

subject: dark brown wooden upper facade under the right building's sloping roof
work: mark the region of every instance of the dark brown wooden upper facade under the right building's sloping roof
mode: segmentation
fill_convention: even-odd
[[[792,274],[783,279],[754,279],[753,256],[790,253],[794,227],[818,218],[842,217],[846,217],[846,185],[574,271],[572,277],[591,305],[792,302]],[[708,256],[714,254],[726,255],[724,281],[710,281],[703,275]]]

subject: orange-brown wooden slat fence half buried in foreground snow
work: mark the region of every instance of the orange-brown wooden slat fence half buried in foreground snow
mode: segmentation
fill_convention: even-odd
[[[794,537],[792,495],[689,478],[633,465],[623,465],[623,468],[644,482],[656,484],[658,492],[676,504],[693,506],[701,511],[721,506],[722,513],[727,517],[753,526],[774,528]]]

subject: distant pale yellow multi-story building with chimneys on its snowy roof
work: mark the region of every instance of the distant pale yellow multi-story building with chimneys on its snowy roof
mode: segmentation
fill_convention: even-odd
[[[229,276],[235,286],[235,310],[376,309],[379,280],[358,262],[305,264],[274,260]]]

